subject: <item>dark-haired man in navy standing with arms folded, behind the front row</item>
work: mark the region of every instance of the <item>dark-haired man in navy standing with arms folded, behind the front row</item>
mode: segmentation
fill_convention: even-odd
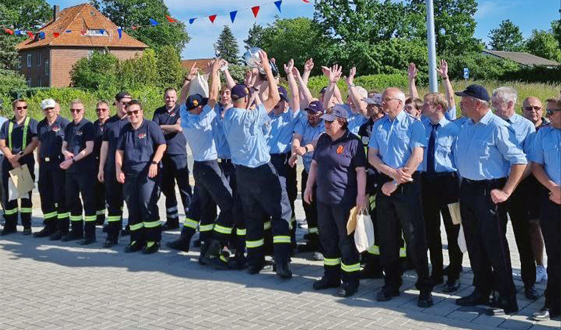
[[[189,184],[189,167],[187,167],[187,141],[182,133],[180,121],[180,104],[177,104],[177,91],[168,88],[164,93],[165,106],[154,111],[152,121],[160,125],[168,145],[162,158],[162,193],[165,195],[165,214],[167,221],[162,231],[179,228],[180,216],[177,212],[175,181],[180,189],[181,201],[185,214],[189,214],[191,205],[191,185]]]

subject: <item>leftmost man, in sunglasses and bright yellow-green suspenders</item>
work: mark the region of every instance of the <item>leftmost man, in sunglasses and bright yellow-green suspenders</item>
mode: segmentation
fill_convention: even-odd
[[[4,191],[8,193],[9,172],[16,167],[27,165],[31,177],[35,179],[35,160],[33,151],[37,146],[37,121],[27,116],[27,102],[25,99],[16,99],[12,103],[14,116],[6,121],[0,130],[0,149],[4,153],[2,163],[2,184]],[[16,232],[18,225],[18,213],[21,213],[23,235],[31,235],[31,213],[33,202],[31,191],[29,197],[21,199],[21,207],[18,210],[18,200],[6,198],[4,206],[4,229],[0,235],[8,235]],[[19,212],[18,212],[19,211]]]

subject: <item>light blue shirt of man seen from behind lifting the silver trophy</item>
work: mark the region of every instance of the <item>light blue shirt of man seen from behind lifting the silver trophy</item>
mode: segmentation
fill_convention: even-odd
[[[269,163],[271,156],[262,130],[268,118],[263,104],[251,110],[230,108],[226,111],[224,132],[234,164],[255,168]]]

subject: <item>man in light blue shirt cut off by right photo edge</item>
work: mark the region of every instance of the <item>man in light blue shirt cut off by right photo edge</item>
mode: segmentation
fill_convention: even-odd
[[[550,125],[538,130],[529,160],[534,177],[546,187],[541,197],[540,225],[548,254],[548,286],[546,304],[534,313],[536,321],[561,315],[561,99],[547,99]]]

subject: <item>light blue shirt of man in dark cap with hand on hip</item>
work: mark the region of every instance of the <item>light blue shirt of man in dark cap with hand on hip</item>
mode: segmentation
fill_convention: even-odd
[[[501,179],[511,165],[527,164],[526,156],[508,123],[489,110],[478,123],[470,118],[454,147],[461,177],[470,180]]]

